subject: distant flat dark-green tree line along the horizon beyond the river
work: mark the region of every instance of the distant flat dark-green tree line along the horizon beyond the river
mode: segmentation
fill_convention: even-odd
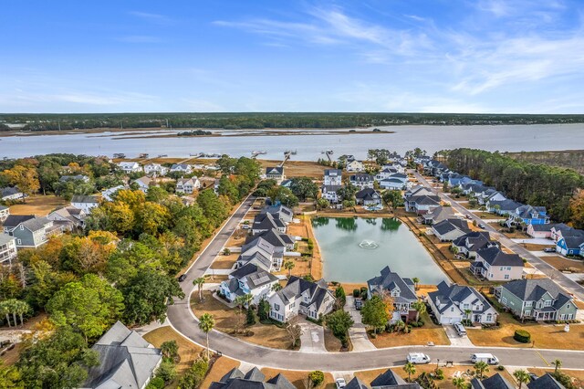
[[[104,113],[104,114],[2,114],[5,123],[25,124],[23,131],[87,130],[98,128],[344,128],[402,124],[482,125],[584,122],[584,115],[508,115],[451,113]]]

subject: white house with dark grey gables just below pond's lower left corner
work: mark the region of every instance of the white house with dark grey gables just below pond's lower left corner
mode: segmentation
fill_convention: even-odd
[[[292,276],[286,287],[270,296],[269,303],[270,318],[275,321],[286,322],[298,314],[318,320],[333,310],[335,295],[324,279],[312,282]]]

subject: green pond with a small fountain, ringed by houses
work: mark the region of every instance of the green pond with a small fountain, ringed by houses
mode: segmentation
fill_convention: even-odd
[[[312,226],[328,281],[362,283],[386,266],[401,277],[417,277],[421,284],[448,279],[399,219],[315,217]]]

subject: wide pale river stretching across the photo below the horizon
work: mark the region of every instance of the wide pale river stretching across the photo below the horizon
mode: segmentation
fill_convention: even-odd
[[[345,130],[297,129],[301,135],[254,136],[257,131],[233,136],[234,131],[219,131],[215,137],[137,138],[131,132],[67,133],[57,135],[24,135],[0,138],[0,157],[19,158],[52,152],[108,155],[123,152],[136,157],[141,152],[151,155],[168,154],[188,157],[191,153],[226,153],[232,156],[250,155],[265,150],[264,159],[281,159],[287,150],[297,151],[293,159],[315,161],[324,150],[335,156],[353,154],[359,159],[372,148],[384,148],[399,153],[420,147],[429,153],[457,147],[471,147],[500,152],[535,152],[544,150],[581,149],[584,146],[584,124],[481,125],[481,126],[424,126],[406,125],[380,127],[383,131],[347,133]],[[185,131],[185,130],[182,130]],[[287,132],[290,132],[287,131]],[[339,131],[345,132],[339,134]],[[252,133],[250,133],[252,132]],[[151,132],[153,133],[153,132]],[[167,132],[168,133],[168,132]],[[232,136],[230,136],[232,135]],[[125,138],[125,139],[120,139]]]

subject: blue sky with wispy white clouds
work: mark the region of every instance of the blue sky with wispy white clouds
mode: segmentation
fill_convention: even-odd
[[[581,0],[25,1],[0,111],[584,113]]]

